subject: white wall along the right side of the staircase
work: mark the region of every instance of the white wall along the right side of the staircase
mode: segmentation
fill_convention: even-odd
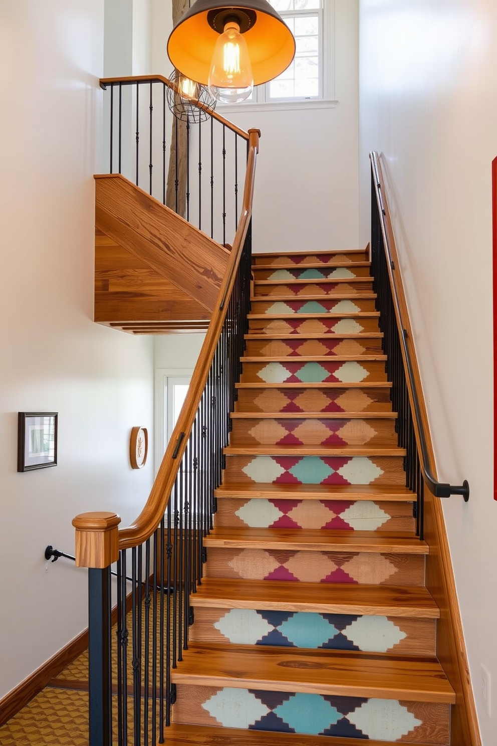
[[[497,505],[493,501],[491,162],[497,155],[495,0],[361,0],[361,238],[367,152],[382,153],[485,746],[497,717]]]

